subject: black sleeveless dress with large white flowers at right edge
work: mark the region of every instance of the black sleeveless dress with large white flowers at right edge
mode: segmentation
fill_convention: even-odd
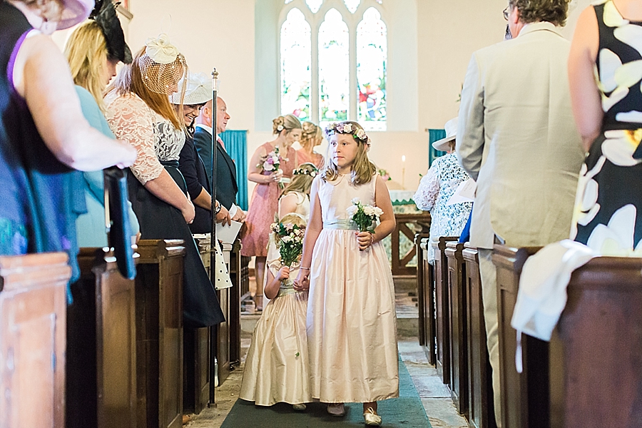
[[[593,5],[604,118],[582,166],[571,238],[603,255],[642,253],[642,22]]]

